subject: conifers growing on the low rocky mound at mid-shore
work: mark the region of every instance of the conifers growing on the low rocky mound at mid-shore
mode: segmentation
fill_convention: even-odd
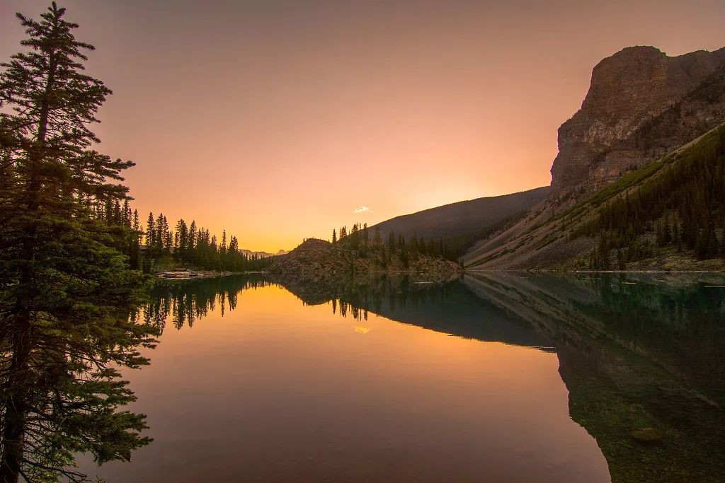
[[[339,232],[332,230],[332,243],[349,251],[356,251],[362,257],[371,253],[382,255],[384,261],[397,254],[405,266],[408,266],[410,261],[419,255],[457,260],[456,253],[450,250],[442,239],[426,241],[413,233],[406,240],[402,233],[396,235],[394,231],[391,231],[386,240],[383,240],[379,227],[375,227],[373,235],[370,237],[367,223],[353,224],[352,230],[349,232],[347,226],[340,227]]]

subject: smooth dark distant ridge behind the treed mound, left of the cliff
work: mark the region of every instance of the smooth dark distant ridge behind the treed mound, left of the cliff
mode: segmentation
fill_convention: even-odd
[[[445,240],[476,232],[522,211],[528,211],[548,193],[549,187],[544,186],[510,195],[459,201],[395,217],[378,223],[370,229],[378,227],[384,238],[393,231],[406,237],[415,234],[423,240],[431,238]]]

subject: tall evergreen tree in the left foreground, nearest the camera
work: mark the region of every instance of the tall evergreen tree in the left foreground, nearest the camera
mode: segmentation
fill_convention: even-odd
[[[149,442],[144,416],[118,411],[133,393],[114,369],[145,364],[136,347],[153,343],[128,316],[143,279],[96,209],[128,199],[133,163],[91,149],[111,91],[83,74],[93,47],[64,14],[55,3],[40,21],[18,14],[27,51],[1,64],[1,482],[78,481],[78,453],[128,460]]]

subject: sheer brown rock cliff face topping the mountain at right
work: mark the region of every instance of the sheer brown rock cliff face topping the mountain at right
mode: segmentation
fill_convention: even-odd
[[[594,68],[559,128],[552,196],[591,192],[725,121],[725,49],[670,57],[629,47]]]

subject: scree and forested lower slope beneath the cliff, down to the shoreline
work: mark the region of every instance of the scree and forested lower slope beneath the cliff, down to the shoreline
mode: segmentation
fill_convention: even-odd
[[[466,253],[467,269],[725,268],[725,125],[579,203],[539,207]]]

